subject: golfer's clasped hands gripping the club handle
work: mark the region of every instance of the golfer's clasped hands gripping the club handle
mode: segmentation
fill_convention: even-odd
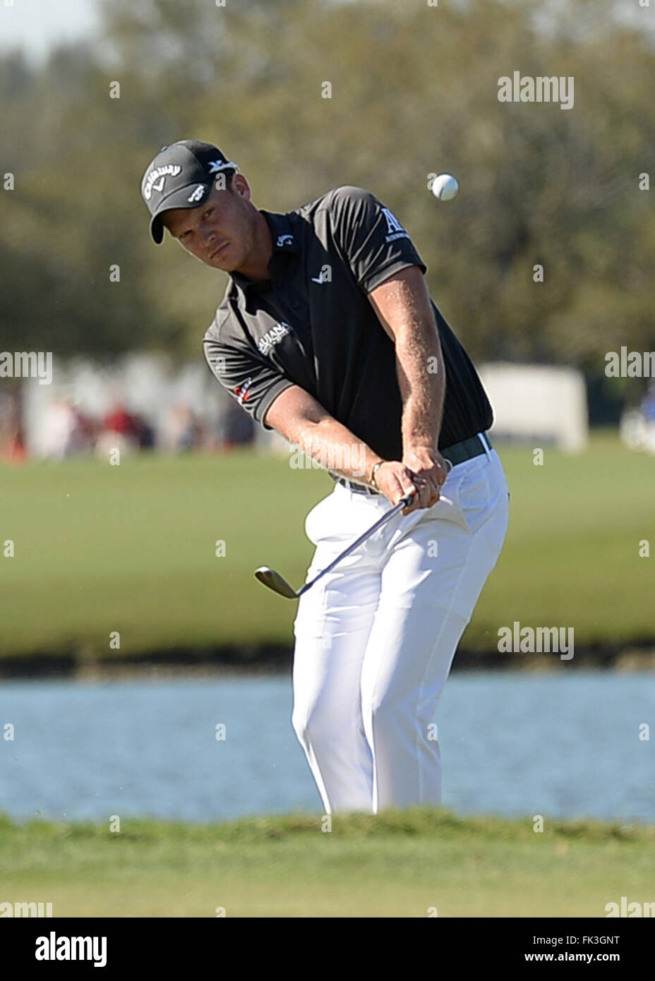
[[[439,490],[448,476],[448,464],[431,447],[414,447],[403,454],[402,461],[387,460],[376,471],[378,489],[392,504],[405,494],[413,494],[409,507],[401,514],[431,507],[439,499]]]

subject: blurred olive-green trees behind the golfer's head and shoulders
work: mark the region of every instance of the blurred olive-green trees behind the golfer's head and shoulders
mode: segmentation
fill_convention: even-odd
[[[655,347],[655,219],[638,187],[655,159],[655,52],[611,0],[103,10],[93,49],[60,48],[41,70],[0,58],[2,171],[16,175],[0,198],[3,348],[199,354],[226,278],[170,239],[155,248],[139,194],[150,158],[184,136],[236,160],[259,207],[343,183],[376,193],[478,359],[600,377],[606,351]],[[500,103],[514,71],[573,76],[573,108]],[[447,204],[428,192],[444,171],[461,184]]]

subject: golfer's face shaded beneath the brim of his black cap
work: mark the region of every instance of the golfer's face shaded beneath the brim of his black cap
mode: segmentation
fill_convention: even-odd
[[[248,181],[236,174],[231,190],[219,190],[215,184],[199,208],[165,211],[162,224],[196,259],[231,273],[238,272],[253,253],[255,215]]]

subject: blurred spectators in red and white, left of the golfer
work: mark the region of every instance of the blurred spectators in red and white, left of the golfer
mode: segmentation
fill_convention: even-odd
[[[116,449],[130,453],[198,449],[221,452],[251,443],[254,425],[237,405],[233,409],[228,406],[220,424],[212,427],[187,403],[176,402],[156,426],[121,401],[115,402],[104,416],[94,418],[83,412],[75,400],[60,397],[49,404],[39,436],[40,448],[33,455],[51,460],[82,454],[106,458]],[[20,463],[26,456],[20,397],[17,392],[0,392],[0,460]]]

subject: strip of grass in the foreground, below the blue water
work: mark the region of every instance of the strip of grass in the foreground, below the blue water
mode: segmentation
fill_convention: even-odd
[[[655,827],[378,815],[243,818],[215,826],[0,818],[0,902],[54,916],[606,916],[651,902]]]

